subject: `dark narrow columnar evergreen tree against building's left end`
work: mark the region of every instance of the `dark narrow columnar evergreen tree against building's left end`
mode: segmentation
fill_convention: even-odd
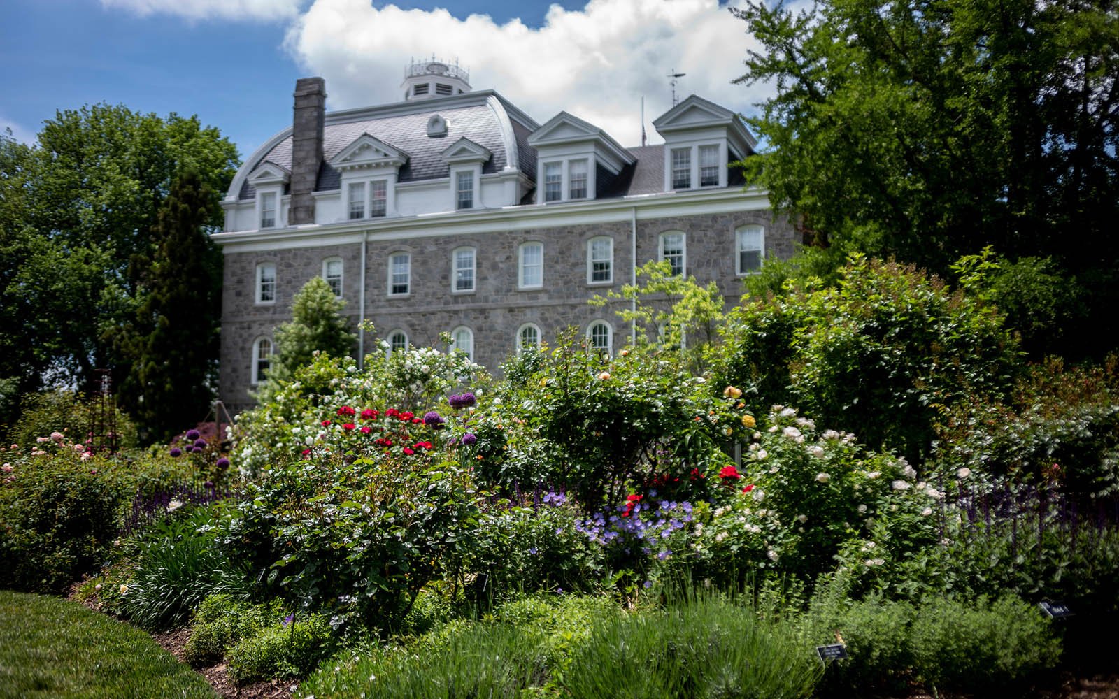
[[[135,417],[164,440],[206,416],[216,379],[222,257],[206,235],[215,197],[197,171],[171,186],[154,226],[160,240],[135,328]]]

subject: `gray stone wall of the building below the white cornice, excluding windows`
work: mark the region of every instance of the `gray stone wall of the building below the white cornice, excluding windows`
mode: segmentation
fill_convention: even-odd
[[[789,223],[769,210],[753,209],[726,214],[703,214],[665,218],[638,218],[637,264],[658,256],[659,236],[669,230],[686,234],[686,272],[700,284],[715,281],[728,303],[742,293],[735,270],[735,230],[756,224],[764,228],[767,257],[788,258],[799,236]],[[377,329],[376,338],[365,337],[365,351],[380,351],[377,341],[391,331],[403,330],[413,346],[435,346],[441,332],[460,325],[473,331],[474,360],[496,370],[516,348],[517,330],[535,323],[542,339],[553,341],[570,325],[585,331],[594,320],[613,329],[613,347],[630,338],[630,328],[613,308],[595,308],[586,301],[609,291],[620,291],[631,281],[633,224],[629,220],[594,225],[558,225],[513,232],[454,234],[431,237],[370,239],[366,244],[366,273],[361,278],[361,244],[320,247],[276,247],[265,252],[225,254],[222,324],[222,399],[234,412],[251,407],[248,396],[253,342],[273,337],[276,325],[290,320],[294,294],[312,276],[322,274],[322,262],[341,257],[345,313],[357,327],[361,291],[365,318]],[[613,239],[613,280],[587,283],[587,243],[608,236]],[[538,242],[544,246],[543,287],[521,291],[518,282],[518,248]],[[461,247],[476,251],[474,291],[452,292],[452,253]],[[411,287],[407,295],[389,295],[388,259],[394,253],[411,254]],[[256,267],[276,266],[273,303],[255,302]]]

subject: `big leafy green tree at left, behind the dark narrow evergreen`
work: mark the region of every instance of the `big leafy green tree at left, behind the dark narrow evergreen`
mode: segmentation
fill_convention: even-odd
[[[0,139],[0,308],[20,328],[0,378],[22,391],[44,381],[88,390],[111,368],[120,405],[138,409],[134,358],[151,323],[137,323],[160,244],[159,211],[176,178],[195,170],[213,199],[237,164],[235,147],[196,116],[159,117],[97,104],[60,111],[30,147]],[[8,334],[8,333],[4,333]],[[11,333],[15,336],[15,333]]]

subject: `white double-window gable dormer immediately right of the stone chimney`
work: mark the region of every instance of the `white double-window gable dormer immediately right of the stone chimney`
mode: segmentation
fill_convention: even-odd
[[[363,133],[330,159],[341,173],[344,218],[396,216],[396,180],[408,161],[403,150]]]

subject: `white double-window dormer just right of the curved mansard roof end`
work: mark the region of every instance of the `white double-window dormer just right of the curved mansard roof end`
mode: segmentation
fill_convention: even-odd
[[[593,199],[598,172],[618,174],[633,154],[602,129],[560,112],[528,136],[536,149],[536,202]]]

